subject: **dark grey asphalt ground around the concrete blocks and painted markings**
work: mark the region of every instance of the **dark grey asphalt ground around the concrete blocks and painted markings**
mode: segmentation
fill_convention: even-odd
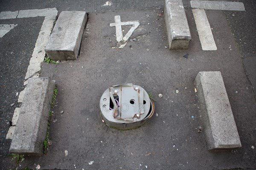
[[[22,167],[28,166],[34,168],[34,164],[40,163],[42,169],[74,169],[74,164],[76,164],[77,168],[86,167],[84,169],[120,168],[117,166],[116,160],[112,160],[106,155],[109,153],[113,157],[118,157],[119,162],[128,161],[127,164],[123,163],[122,168],[125,169],[145,169],[145,165],[150,169],[225,169],[238,167],[254,169],[256,167],[256,153],[255,149],[252,150],[251,145],[256,146],[255,89],[253,89],[253,86],[255,88],[253,82],[255,82],[256,77],[254,76],[256,68],[256,37],[252,33],[256,32],[256,3],[254,1],[239,0],[239,2],[244,3],[246,12],[207,10],[209,23],[213,28],[213,35],[220,35],[216,36],[215,40],[217,42],[218,52],[201,51],[201,45],[196,40],[198,35],[195,31],[191,9],[186,8],[186,15],[194,41],[192,41],[193,43],[191,43],[187,51],[169,52],[164,47],[167,41],[165,23],[162,20],[157,20],[159,18],[161,19],[157,14],[163,10],[163,1],[151,0],[143,1],[143,3],[138,1],[135,10],[134,3],[132,1],[127,2],[132,4],[130,6],[133,8],[128,10],[123,10],[120,6],[106,8],[102,6],[105,1],[46,0],[41,3],[41,6],[36,1],[28,0],[22,2],[3,0],[0,2],[0,11],[56,7],[58,14],[66,10],[85,10],[89,12],[89,20],[84,32],[81,53],[77,61],[61,62],[59,66],[46,63],[42,64],[41,76],[54,77],[59,88],[59,95],[57,97],[59,107],[55,108],[56,114],[54,115],[58,121],[56,124],[52,123],[50,130],[54,144],[44,156],[26,157],[22,163]],[[188,4],[188,2],[184,2],[184,4],[186,3]],[[134,16],[134,13],[137,14],[137,17]],[[104,32],[102,35],[111,34],[111,37],[113,37],[115,29],[107,28],[107,25],[103,26],[102,24],[113,22],[113,16],[117,14],[122,14],[121,20],[124,21],[139,18],[139,20],[152,23],[151,25],[148,25],[147,22],[142,23],[141,26],[144,26],[144,29],[137,30],[138,32],[134,32],[134,35],[131,36],[131,39],[133,39],[140,35],[148,35],[143,38],[143,44],[137,44],[131,41],[123,50],[116,51],[111,50],[111,46],[114,46],[112,43],[108,45],[95,45],[93,41],[85,39],[87,34],[95,35],[99,32]],[[152,17],[147,18],[146,16],[148,14]],[[99,18],[102,20],[99,20]],[[26,69],[43,20],[43,17],[0,20],[1,24],[18,24],[12,31],[0,38],[1,169],[15,167],[15,164],[7,157],[11,142],[11,140],[5,139],[9,128],[7,122],[12,120],[13,111],[19,105],[15,94],[24,88],[23,80]],[[157,21],[153,23],[153,20]],[[246,22],[244,22],[245,20]],[[162,25],[159,26],[159,24]],[[227,40],[226,43],[221,41],[221,36],[228,36],[225,39]],[[234,47],[232,52],[227,51],[229,50],[230,44]],[[189,53],[189,60],[182,57],[186,53]],[[111,61],[106,61],[109,57],[111,57]],[[134,61],[132,64],[129,58]],[[144,65],[141,66],[140,63]],[[219,63],[221,63],[220,66],[218,66]],[[95,78],[94,75],[92,77],[84,75],[87,69],[115,69],[116,65],[119,70],[127,69],[131,72],[130,76],[127,78],[119,76],[111,80],[104,77]],[[84,69],[81,69],[81,66]],[[134,70],[136,72],[136,70],[140,69],[145,70],[144,76],[141,78],[134,77]],[[193,122],[190,119],[180,121],[176,117],[176,114],[183,118],[198,115],[196,111],[197,105],[194,107],[194,104],[197,104],[197,102],[195,95],[192,93],[193,75],[183,78],[176,72],[177,70],[186,72],[188,69],[221,70],[224,75],[224,83],[243,148],[220,154],[207,153],[203,133],[195,133],[195,127],[201,125],[201,118],[199,117]],[[170,76],[173,74],[173,71],[175,71],[175,77]],[[160,76],[163,74],[165,78]],[[249,80],[247,80],[246,75],[248,75]],[[67,82],[66,76],[70,82],[73,82],[72,84]],[[165,108],[166,105],[171,105],[170,103],[158,99],[156,112],[158,112],[159,117],[152,118],[148,124],[139,129],[141,135],[135,136],[134,133],[137,132],[134,131],[121,133],[110,130],[102,124],[99,115],[93,114],[99,111],[97,107],[87,108],[88,105],[86,104],[91,104],[87,98],[93,99],[93,101],[98,103],[100,98],[98,95],[101,95],[109,85],[119,84],[120,82],[124,83],[126,81],[141,86],[144,85],[145,89],[148,92],[152,91],[155,96],[168,89],[163,93],[166,96],[163,99],[176,101],[177,104],[186,101],[186,104],[189,104],[189,106],[191,104],[192,106],[185,111],[182,109],[172,111],[172,108]],[[88,88],[86,88],[87,86]],[[95,87],[96,89],[94,89]],[[185,87],[188,88],[187,91],[184,90]],[[181,93],[178,97],[172,94],[172,91],[176,89],[179,89]],[[238,91],[239,95],[236,95],[236,91]],[[92,94],[97,95],[94,96]],[[75,101],[69,102],[67,98],[75,98]],[[81,99],[84,103],[81,102]],[[15,103],[15,105],[10,107],[12,103]],[[65,108],[66,105],[70,108]],[[67,115],[58,114],[63,108],[65,108],[64,112],[68,113]],[[72,113],[76,112],[78,115],[73,118]],[[84,124],[87,118],[93,121]],[[167,124],[163,123],[163,121],[167,122]],[[183,124],[183,129],[180,129],[174,122]],[[79,125],[79,127],[75,125]],[[80,134],[82,131],[86,131],[87,134]],[[76,134],[74,132],[80,133]],[[190,134],[192,134],[192,139],[197,139],[198,142],[196,144],[187,143],[185,141],[186,138],[182,138],[180,134],[183,134],[182,136],[185,135],[188,139],[191,136]],[[130,140],[127,136],[131,137]],[[99,144],[99,140],[106,138],[115,139],[113,142],[117,147],[104,147],[102,144]],[[128,140],[128,143],[123,144],[120,140]],[[134,141],[136,142],[134,143]],[[138,144],[139,147],[134,147],[134,144]],[[70,157],[65,158],[63,157],[63,152],[67,149],[67,145],[70,148],[68,149]],[[173,147],[174,145],[175,147]],[[84,150],[84,148],[86,149]],[[111,164],[106,158],[111,160]],[[87,162],[94,159],[97,160],[95,164],[88,166]],[[192,161],[186,165],[185,160]],[[156,162],[159,162],[160,165],[157,165]],[[216,165],[216,162],[219,165]],[[49,167],[49,165],[52,166]],[[183,165],[186,167],[183,167]]]

